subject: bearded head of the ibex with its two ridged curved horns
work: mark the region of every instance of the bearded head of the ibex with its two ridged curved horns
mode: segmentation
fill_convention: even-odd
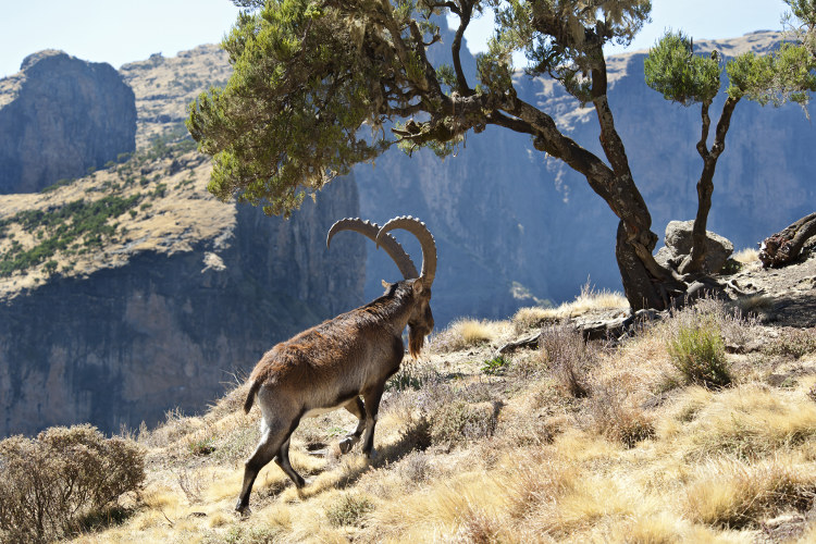
[[[388,231],[395,228],[408,231],[419,239],[422,247],[421,274],[417,273],[413,261],[408,257],[403,246],[388,234]],[[411,357],[417,358],[424,345],[425,336],[431,333],[434,325],[433,312],[431,311],[431,285],[436,274],[436,244],[433,235],[424,223],[410,215],[394,218],[385,223],[382,228],[376,223],[362,221],[361,219],[343,219],[329,230],[326,247],[329,247],[332,236],[339,231],[354,231],[373,240],[378,247],[382,246],[385,249],[399,268],[405,280],[397,284],[384,283],[384,285],[386,294],[392,289],[408,290],[408,293],[403,293],[411,302],[408,317],[408,350]]]

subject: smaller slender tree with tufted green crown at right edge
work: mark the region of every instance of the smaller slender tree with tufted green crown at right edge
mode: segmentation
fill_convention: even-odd
[[[801,44],[801,42],[800,42]],[[667,32],[650,50],[644,62],[646,85],[664,98],[682,106],[701,104],[702,131],[696,148],[703,159],[697,181],[697,213],[692,231],[691,255],[678,267],[680,273],[700,273],[705,259],[706,222],[712,208],[714,172],[717,159],[726,149],[731,115],[743,98],[762,106],[780,106],[793,101],[806,107],[808,91],[816,90],[813,55],[800,44],[782,44],[766,55],[744,52],[725,62],[729,85],[717,122],[714,141],[708,147],[712,120],[708,110],[719,94],[724,62],[718,51],[695,55],[693,44],[682,33]]]

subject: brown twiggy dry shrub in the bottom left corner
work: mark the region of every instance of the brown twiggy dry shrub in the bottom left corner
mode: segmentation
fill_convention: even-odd
[[[145,480],[145,454],[84,424],[0,442],[0,541],[45,542],[76,533]]]

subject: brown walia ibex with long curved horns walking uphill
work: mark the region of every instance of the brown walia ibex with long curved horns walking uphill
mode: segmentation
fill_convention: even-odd
[[[388,234],[394,228],[410,232],[422,246],[422,274],[408,254]],[[362,452],[372,456],[374,426],[385,381],[399,368],[408,326],[408,347],[417,357],[424,337],[433,329],[431,284],[436,271],[436,245],[424,223],[411,217],[395,218],[382,228],[360,219],[343,219],[329,230],[326,247],[341,231],[360,233],[382,246],[394,259],[405,280],[383,282],[385,294],[366,306],[330,319],[267,351],[249,376],[246,412],[258,399],[263,420],[261,441],[246,461],[244,485],[235,509],[249,506],[258,471],[274,458],[300,489],[306,482],[289,463],[289,437],[301,418],[345,408],[357,416],[354,433],[339,443],[347,453],[360,440]],[[362,398],[360,398],[362,397]]]

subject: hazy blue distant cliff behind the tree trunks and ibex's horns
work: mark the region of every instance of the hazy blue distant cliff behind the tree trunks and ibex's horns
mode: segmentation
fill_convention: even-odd
[[[729,55],[766,51],[778,38],[756,33],[694,45]],[[663,237],[669,221],[694,218],[702,169],[694,148],[700,108],[669,103],[650,89],[644,57],[636,52],[608,60],[609,101],[653,231]],[[540,104],[576,141],[603,157],[594,110],[580,108],[552,81],[517,77],[522,98]],[[713,116],[720,108],[721,101],[715,102]],[[799,107],[738,104],[714,178],[708,230],[738,249],[755,247],[812,212],[814,148],[816,129]],[[617,218],[586,180],[533,149],[526,136],[489,127],[468,135],[458,154],[445,161],[428,150],[412,158],[395,150],[375,166],[355,172],[363,215],[382,220],[411,213],[436,235],[438,323],[461,314],[506,317],[534,301],[526,295],[568,300],[588,277],[597,287],[621,288],[615,261]],[[367,297],[380,289],[381,277],[394,276],[386,261],[369,252]]]

